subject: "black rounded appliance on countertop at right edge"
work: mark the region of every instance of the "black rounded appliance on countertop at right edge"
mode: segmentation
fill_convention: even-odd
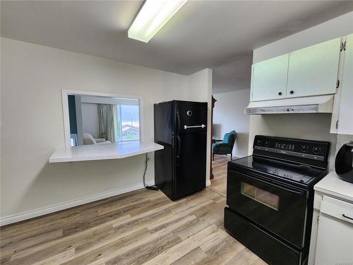
[[[353,142],[345,143],[338,151],[335,170],[338,177],[353,183]]]

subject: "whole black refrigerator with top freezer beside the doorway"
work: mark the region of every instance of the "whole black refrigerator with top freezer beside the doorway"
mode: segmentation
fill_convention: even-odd
[[[154,105],[155,185],[173,201],[205,189],[207,102],[172,100]]]

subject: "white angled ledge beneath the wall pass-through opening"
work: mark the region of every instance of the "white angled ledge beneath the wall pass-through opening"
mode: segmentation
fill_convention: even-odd
[[[163,149],[163,146],[150,141],[127,141],[104,145],[73,146],[54,151],[49,158],[49,163],[128,158],[129,156],[161,149]]]

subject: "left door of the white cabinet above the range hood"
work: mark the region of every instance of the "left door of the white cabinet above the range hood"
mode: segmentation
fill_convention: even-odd
[[[253,64],[251,100],[275,100],[286,97],[289,54]]]

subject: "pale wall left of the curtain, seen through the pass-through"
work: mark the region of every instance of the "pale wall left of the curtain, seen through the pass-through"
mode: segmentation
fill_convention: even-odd
[[[95,103],[81,103],[83,134],[98,137],[98,105]]]

